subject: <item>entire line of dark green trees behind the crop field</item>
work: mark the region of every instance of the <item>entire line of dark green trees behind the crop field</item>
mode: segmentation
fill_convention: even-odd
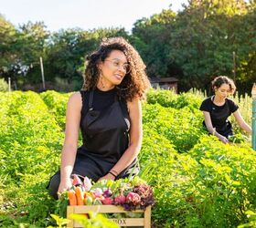
[[[39,57],[47,88],[80,89],[84,57],[102,37],[124,36],[144,59],[150,78],[175,77],[179,91],[207,89],[212,78],[233,78],[241,93],[256,81],[255,0],[189,0],[123,27],[49,32],[43,22],[14,26],[0,15],[0,78],[16,89],[40,89]]]

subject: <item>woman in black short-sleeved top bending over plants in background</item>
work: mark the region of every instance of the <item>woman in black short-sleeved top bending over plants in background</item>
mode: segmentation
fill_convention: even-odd
[[[238,105],[228,98],[236,90],[233,80],[226,76],[214,78],[212,89],[215,95],[206,98],[200,107],[204,114],[203,125],[208,132],[224,143],[229,142],[229,136],[233,135],[233,131],[228,118],[233,114],[240,128],[251,134],[251,127],[242,118]]]

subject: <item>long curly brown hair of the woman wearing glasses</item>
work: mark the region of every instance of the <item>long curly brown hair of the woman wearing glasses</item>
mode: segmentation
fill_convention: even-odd
[[[119,98],[132,101],[133,98],[145,98],[145,91],[150,88],[150,82],[145,73],[144,61],[123,37],[103,38],[98,50],[86,57],[86,68],[84,72],[84,90],[96,88],[100,78],[98,64],[110,56],[112,50],[120,50],[127,58],[131,70],[125,75],[123,81],[117,88]]]

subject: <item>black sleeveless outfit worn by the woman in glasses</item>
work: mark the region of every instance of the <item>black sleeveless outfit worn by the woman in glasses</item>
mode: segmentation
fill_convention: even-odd
[[[78,149],[73,173],[98,181],[112,169],[128,148],[131,119],[126,102],[118,99],[115,88],[106,92],[96,88],[80,91],[80,94],[83,143]],[[118,178],[138,171],[135,159]]]

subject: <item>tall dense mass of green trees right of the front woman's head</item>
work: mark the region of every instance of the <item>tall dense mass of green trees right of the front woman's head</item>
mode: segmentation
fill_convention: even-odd
[[[144,57],[150,76],[174,76],[181,90],[209,88],[217,75],[232,78],[233,52],[234,79],[240,82],[247,78],[241,72],[250,71],[247,63],[255,50],[254,8],[252,1],[191,0],[177,14],[165,10],[138,20],[133,44]]]

